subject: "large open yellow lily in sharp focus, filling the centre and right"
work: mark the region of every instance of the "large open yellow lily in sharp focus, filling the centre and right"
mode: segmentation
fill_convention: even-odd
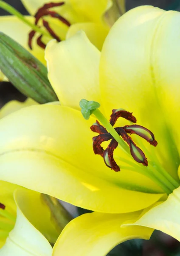
[[[83,32],[51,41],[48,76],[62,105],[31,106],[0,120],[2,180],[96,211],[65,227],[55,253],[105,255],[126,239],[148,238],[153,229],[180,241],[179,21],[179,12],[141,6],[115,23],[101,53]],[[133,112],[145,128],[115,123],[132,156],[122,140],[124,150],[116,148],[111,158],[94,154],[90,127],[104,128],[94,116],[82,118],[81,99],[99,102],[107,119],[113,109],[123,108],[129,120]],[[124,134],[129,127],[132,138]],[[121,172],[108,168],[113,160]],[[69,239],[71,247],[65,246]]]

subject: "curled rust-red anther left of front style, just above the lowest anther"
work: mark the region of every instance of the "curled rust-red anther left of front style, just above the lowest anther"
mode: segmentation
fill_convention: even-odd
[[[101,143],[103,143],[104,141],[108,141],[112,138],[113,137],[110,133],[99,134],[98,136],[93,137],[94,154],[99,154],[101,157],[103,157],[104,149],[101,147]]]

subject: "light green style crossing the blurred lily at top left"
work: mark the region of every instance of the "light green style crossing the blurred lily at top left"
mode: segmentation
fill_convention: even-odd
[[[5,11],[9,12],[10,14],[18,17],[20,20],[22,20],[24,23],[26,23],[28,26],[30,26],[33,30],[35,30],[36,32],[39,32],[42,35],[51,37],[48,33],[46,33],[45,31],[43,31],[42,29],[40,29],[38,26],[36,26],[35,24],[29,22],[24,15],[22,15],[20,12],[18,12],[16,9],[14,9],[11,5],[9,5],[8,3],[1,1],[0,0],[0,8],[4,9]]]

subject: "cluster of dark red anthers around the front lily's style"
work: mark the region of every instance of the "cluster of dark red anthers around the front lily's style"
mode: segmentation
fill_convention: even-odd
[[[130,122],[136,123],[135,116],[132,113],[120,109],[113,109],[113,113],[110,116],[110,125],[114,126],[115,122],[119,117],[123,117]],[[104,158],[104,163],[113,169],[115,172],[120,171],[120,167],[114,160],[113,152],[115,148],[118,146],[118,142],[113,138],[113,136],[107,132],[106,128],[104,128],[98,121],[93,124],[91,130],[97,132],[99,135],[93,137],[93,150],[95,154],[101,155]],[[123,127],[116,127],[115,131],[122,137],[122,139],[128,144],[130,148],[130,153],[134,160],[138,163],[142,163],[143,166],[148,166],[148,161],[145,157],[145,154],[138,148],[138,146],[134,143],[132,138],[128,134],[137,134],[138,136],[145,139],[153,146],[157,146],[157,141],[155,140],[154,134],[141,125],[126,125]],[[101,147],[101,143],[104,141],[110,140],[110,144],[104,150]]]

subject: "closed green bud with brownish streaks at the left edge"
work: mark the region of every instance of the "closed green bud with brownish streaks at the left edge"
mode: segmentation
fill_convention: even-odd
[[[25,96],[41,104],[57,101],[47,68],[16,41],[0,32],[0,70]]]

